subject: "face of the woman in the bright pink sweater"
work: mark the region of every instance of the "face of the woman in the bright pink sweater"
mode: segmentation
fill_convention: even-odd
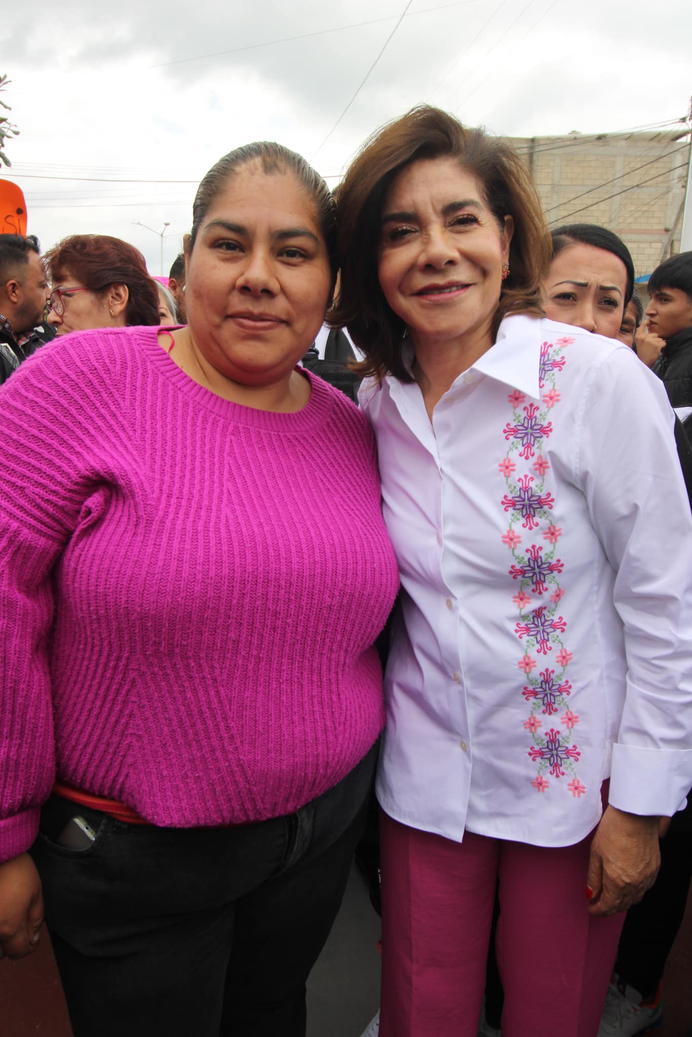
[[[289,173],[248,164],[216,196],[188,256],[194,345],[226,377],[286,377],[325,317],[331,273],[314,203]]]

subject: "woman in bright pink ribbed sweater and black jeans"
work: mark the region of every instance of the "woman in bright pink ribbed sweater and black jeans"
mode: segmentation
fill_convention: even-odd
[[[296,368],[334,205],[254,144],[202,180],[189,325],[3,387],[0,947],[46,916],[76,1037],[302,1037],[382,730],[372,436]]]

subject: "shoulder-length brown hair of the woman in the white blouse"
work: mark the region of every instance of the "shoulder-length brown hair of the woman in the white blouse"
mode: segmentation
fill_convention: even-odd
[[[378,279],[380,217],[398,173],[419,159],[453,158],[481,185],[485,200],[501,224],[515,221],[509,276],[493,321],[493,335],[508,313],[543,315],[541,281],[548,270],[551,241],[541,201],[528,171],[508,144],[469,129],[453,115],[421,105],[377,131],[349,167],[337,193],[341,287],[333,327],[348,327],[365,359],[361,374],[402,382],[411,375],[402,360],[404,321],[389,307]]]

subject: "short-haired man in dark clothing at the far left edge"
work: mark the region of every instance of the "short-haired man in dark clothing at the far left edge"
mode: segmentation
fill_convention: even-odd
[[[0,234],[0,383],[52,337],[37,328],[48,297],[36,239]]]

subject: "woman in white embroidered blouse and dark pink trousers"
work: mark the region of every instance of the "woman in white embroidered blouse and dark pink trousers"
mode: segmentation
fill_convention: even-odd
[[[381,1037],[593,1037],[692,780],[692,520],[660,383],[543,316],[519,158],[418,108],[339,188],[403,585],[387,671]],[[625,445],[626,444],[626,445]],[[603,810],[602,810],[603,804]]]

